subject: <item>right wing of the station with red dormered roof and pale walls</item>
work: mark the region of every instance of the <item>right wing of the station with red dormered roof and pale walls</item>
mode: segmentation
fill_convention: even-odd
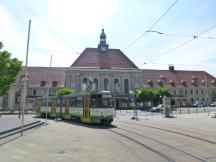
[[[143,87],[167,88],[174,107],[192,106],[194,103],[209,105],[216,100],[216,79],[205,71],[142,70]]]

